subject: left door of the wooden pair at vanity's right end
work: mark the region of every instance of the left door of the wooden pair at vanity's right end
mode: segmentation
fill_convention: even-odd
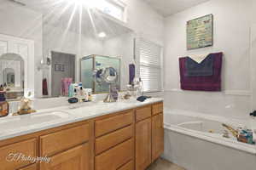
[[[136,170],[151,163],[151,118],[136,123]]]

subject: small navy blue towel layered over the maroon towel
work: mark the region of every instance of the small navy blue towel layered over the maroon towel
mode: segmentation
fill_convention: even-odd
[[[214,54],[208,54],[201,63],[196,62],[190,57],[186,58],[185,68],[186,77],[209,77],[213,74],[213,58]]]

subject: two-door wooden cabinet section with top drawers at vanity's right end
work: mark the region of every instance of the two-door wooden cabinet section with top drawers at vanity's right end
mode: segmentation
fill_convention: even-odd
[[[145,170],[164,151],[163,103],[136,110],[136,170]]]

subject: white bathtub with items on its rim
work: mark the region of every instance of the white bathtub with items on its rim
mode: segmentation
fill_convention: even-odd
[[[187,170],[254,170],[256,146],[223,137],[226,123],[244,127],[241,120],[171,110],[165,111],[165,151],[162,157]]]

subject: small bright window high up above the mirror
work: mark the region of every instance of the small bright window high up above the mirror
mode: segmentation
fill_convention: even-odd
[[[97,6],[105,14],[113,16],[118,20],[125,20],[125,5],[115,0],[105,0]]]

